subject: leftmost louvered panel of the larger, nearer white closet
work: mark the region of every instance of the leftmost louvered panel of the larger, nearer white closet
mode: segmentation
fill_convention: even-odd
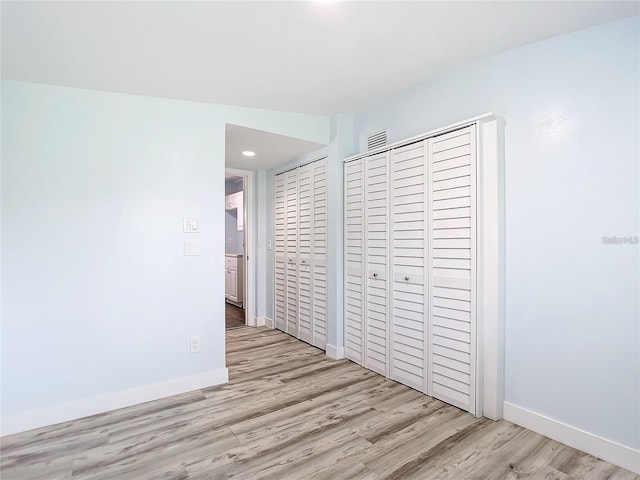
[[[365,221],[364,159],[344,164],[345,205],[345,357],[364,365]]]

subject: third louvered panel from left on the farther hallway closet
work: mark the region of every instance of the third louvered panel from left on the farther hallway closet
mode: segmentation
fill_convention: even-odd
[[[313,238],[312,170],[298,170],[298,338],[311,343],[312,282],[311,244]]]

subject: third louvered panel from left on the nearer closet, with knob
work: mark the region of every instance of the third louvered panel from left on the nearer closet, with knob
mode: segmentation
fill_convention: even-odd
[[[391,151],[390,377],[426,392],[424,142]]]

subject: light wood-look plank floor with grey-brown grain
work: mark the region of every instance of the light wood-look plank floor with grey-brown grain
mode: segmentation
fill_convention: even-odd
[[[639,480],[266,328],[227,331],[230,382],[2,439],[3,480]]]

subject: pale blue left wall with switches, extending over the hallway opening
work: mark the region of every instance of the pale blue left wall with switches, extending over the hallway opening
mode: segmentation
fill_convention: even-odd
[[[224,369],[226,122],[329,135],[326,117],[2,83],[3,419]]]

